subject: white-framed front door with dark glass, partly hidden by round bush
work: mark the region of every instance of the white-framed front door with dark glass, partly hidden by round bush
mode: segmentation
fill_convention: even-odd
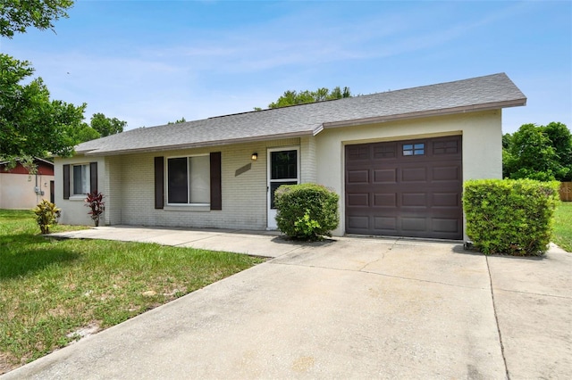
[[[274,191],[282,185],[300,183],[299,148],[268,149],[268,229],[276,229]]]

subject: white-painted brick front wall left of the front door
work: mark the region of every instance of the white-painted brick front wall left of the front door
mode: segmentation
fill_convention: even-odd
[[[58,206],[64,210],[64,223],[91,224],[88,209],[83,202],[63,201],[63,163],[98,161],[98,184],[105,194],[105,224],[164,226],[164,227],[218,227],[236,229],[265,229],[266,227],[266,149],[278,146],[299,146],[299,138],[260,143],[226,145],[222,147],[167,151],[163,153],[122,154],[112,157],[58,159],[56,178],[59,186]],[[307,144],[308,145],[308,144]],[[222,158],[222,211],[193,211],[190,207],[155,209],[156,156],[166,158],[221,152]],[[257,161],[251,161],[252,153]],[[303,151],[302,151],[303,152]],[[302,165],[306,160],[301,153]],[[251,169],[236,176],[236,170],[251,164]],[[166,175],[166,171],[165,171]],[[79,207],[81,206],[81,207]],[[174,209],[174,210],[173,210]]]

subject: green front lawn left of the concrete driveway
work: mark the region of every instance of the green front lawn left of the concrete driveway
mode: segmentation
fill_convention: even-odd
[[[57,226],[53,231],[77,229]],[[0,210],[0,374],[262,259],[157,244],[55,240]]]

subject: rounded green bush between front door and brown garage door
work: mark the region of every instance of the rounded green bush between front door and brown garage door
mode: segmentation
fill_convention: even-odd
[[[331,236],[340,224],[338,194],[316,184],[282,185],[274,192],[276,224],[282,233],[302,240]]]

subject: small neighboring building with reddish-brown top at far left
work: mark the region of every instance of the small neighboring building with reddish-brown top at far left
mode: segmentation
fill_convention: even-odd
[[[0,162],[0,209],[33,209],[42,200],[54,201],[54,164],[34,159],[38,167],[30,174],[20,162],[8,169],[8,162]]]

